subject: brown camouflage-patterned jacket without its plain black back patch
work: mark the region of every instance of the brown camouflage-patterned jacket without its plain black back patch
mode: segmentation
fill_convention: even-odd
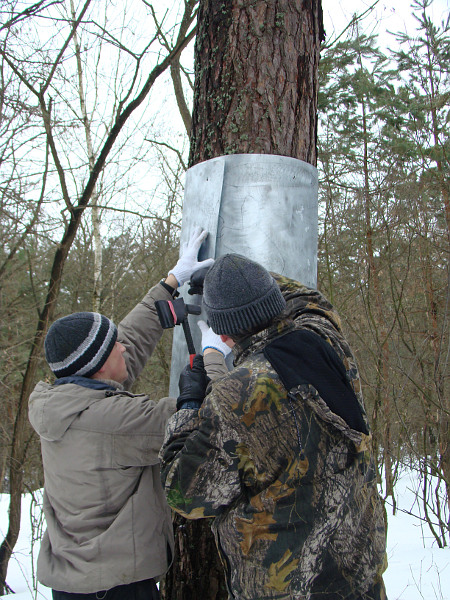
[[[297,329],[321,336],[367,424],[355,359],[331,304],[273,275],[287,301],[282,318],[234,348],[235,368],[198,412],[169,420],[160,453],[169,505],[188,519],[214,517],[230,598],[385,599],[370,434],[351,429],[312,385],[287,390],[263,351]]]

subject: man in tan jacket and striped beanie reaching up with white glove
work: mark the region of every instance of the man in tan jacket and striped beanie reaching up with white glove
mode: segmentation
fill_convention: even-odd
[[[39,382],[29,418],[41,438],[47,531],[38,579],[55,600],[149,600],[172,554],[172,524],[158,452],[175,400],[128,391],[162,335],[156,300],[198,262],[196,230],[177,265],[116,326],[98,313],[58,319],[46,340],[57,379]]]

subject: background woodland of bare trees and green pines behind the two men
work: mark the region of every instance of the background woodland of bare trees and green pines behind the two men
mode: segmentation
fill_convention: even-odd
[[[0,491],[16,507],[3,566],[20,494],[43,485],[26,411],[36,381],[51,376],[48,324],[77,310],[119,322],[178,256],[197,3],[160,4],[2,4]],[[433,22],[431,4],[414,0],[415,28],[390,34],[393,50],[381,50],[356,17],[323,44],[318,287],[359,360],[388,508],[401,466],[417,469],[421,515],[442,547],[450,543],[450,23]],[[170,356],[166,332],[138,390],[167,393]]]

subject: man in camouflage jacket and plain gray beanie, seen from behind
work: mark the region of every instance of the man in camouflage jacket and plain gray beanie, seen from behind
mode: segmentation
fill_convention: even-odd
[[[230,598],[385,600],[385,519],[355,359],[331,304],[272,275],[239,255],[206,275],[208,320],[234,345],[235,368],[200,410],[201,357],[180,378],[160,454],[169,505],[214,518]]]

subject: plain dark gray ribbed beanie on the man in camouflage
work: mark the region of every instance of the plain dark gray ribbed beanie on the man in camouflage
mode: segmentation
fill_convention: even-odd
[[[240,254],[225,254],[205,276],[203,305],[212,330],[233,335],[265,325],[286,302],[264,267]]]

